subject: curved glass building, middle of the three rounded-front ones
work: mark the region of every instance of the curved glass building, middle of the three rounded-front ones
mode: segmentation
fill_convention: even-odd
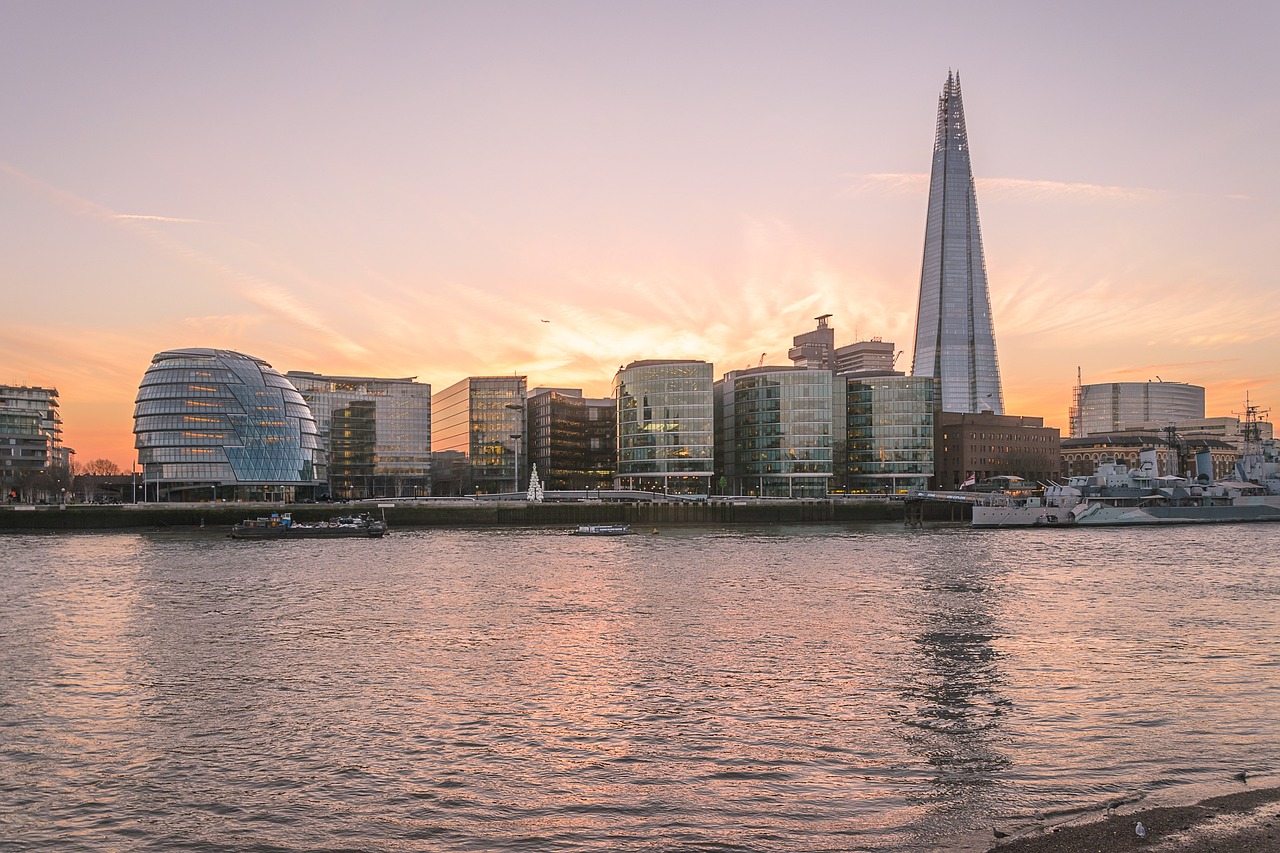
[[[832,476],[831,401],[829,370],[726,374],[716,383],[718,491],[824,497]]]

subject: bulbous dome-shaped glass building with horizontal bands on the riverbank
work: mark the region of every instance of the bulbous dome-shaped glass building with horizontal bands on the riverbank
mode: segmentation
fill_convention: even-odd
[[[147,500],[292,501],[323,484],[311,409],[261,359],[230,350],[160,352],[134,402]]]

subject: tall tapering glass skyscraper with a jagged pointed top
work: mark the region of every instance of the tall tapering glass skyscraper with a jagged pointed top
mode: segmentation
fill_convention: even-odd
[[[1005,411],[960,76],[950,73],[938,99],[911,375],[940,380],[943,411]]]

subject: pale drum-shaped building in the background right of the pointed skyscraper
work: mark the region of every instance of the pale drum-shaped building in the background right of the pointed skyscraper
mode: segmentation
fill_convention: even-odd
[[[1204,388],[1184,382],[1080,384],[1071,406],[1071,437],[1125,429],[1161,429],[1204,418]]]

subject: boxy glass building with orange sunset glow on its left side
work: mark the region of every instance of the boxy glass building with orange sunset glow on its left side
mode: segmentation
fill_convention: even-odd
[[[435,494],[524,492],[525,377],[468,377],[431,396]]]

